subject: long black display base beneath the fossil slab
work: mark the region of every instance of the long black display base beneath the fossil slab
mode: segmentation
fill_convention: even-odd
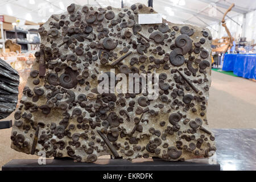
[[[209,164],[208,159],[196,162],[168,162],[162,159],[98,159],[94,163],[75,163],[73,159],[11,160],[3,171],[220,171],[220,164]]]

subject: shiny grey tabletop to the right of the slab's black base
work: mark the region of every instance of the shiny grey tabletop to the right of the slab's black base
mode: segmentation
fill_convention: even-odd
[[[212,129],[224,171],[256,170],[256,129]]]

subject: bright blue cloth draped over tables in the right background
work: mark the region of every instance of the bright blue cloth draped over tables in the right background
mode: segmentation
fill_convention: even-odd
[[[256,80],[256,55],[255,54],[225,54],[224,71],[233,71],[234,75]]]

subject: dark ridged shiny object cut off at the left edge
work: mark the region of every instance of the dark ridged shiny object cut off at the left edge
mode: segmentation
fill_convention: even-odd
[[[19,93],[19,73],[0,59],[0,119],[16,109]]]

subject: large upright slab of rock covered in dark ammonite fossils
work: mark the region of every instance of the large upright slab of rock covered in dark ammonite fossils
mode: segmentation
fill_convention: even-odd
[[[70,5],[39,28],[40,51],[23,90],[11,147],[27,154],[164,160],[208,157],[216,151],[206,113],[209,30],[174,24],[138,24],[156,13]],[[97,75],[159,73],[159,97],[97,94]],[[111,75],[110,73],[108,73]]]

